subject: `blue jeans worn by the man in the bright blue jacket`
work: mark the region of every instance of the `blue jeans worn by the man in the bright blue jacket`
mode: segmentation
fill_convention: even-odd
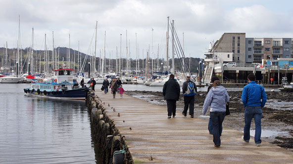
[[[252,118],[254,118],[255,124],[255,134],[254,134],[254,142],[261,143],[260,135],[261,135],[261,106],[246,106],[244,111],[244,140],[249,141],[250,139],[250,124]]]

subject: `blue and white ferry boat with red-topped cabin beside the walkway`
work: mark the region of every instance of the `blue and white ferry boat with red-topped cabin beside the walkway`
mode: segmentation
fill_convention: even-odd
[[[52,78],[38,79],[24,89],[26,94],[43,98],[85,100],[88,89],[80,88],[73,79],[73,69],[53,70]]]

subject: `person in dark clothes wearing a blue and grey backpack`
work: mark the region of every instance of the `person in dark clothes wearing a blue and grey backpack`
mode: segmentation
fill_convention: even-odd
[[[197,88],[195,82],[191,81],[190,75],[186,76],[186,81],[182,86],[182,93],[184,96],[184,110],[182,114],[184,116],[187,115],[187,110],[189,106],[189,115],[191,118],[194,118],[194,110],[195,110],[195,95],[197,92]]]

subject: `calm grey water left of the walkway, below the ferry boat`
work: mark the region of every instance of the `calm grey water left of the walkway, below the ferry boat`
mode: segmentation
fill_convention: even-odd
[[[0,164],[94,164],[84,101],[24,96],[28,84],[0,84]]]

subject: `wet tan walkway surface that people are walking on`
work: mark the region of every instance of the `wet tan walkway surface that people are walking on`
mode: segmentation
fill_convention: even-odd
[[[135,163],[293,163],[293,152],[268,142],[256,147],[253,137],[244,143],[241,131],[223,127],[221,147],[216,148],[206,120],[184,117],[179,111],[167,119],[165,106],[125,94],[115,99],[110,93],[95,94],[125,136]]]

